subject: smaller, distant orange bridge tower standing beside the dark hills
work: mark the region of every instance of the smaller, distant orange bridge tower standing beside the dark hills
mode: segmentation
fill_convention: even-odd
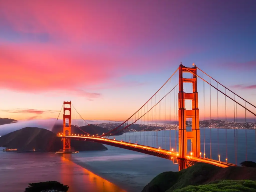
[[[71,135],[71,101],[63,102],[63,135]],[[70,150],[70,139],[63,138],[63,151]]]

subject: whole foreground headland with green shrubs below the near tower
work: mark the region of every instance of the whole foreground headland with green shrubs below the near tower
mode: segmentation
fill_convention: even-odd
[[[221,168],[196,163],[179,172],[164,172],[157,175],[142,192],[256,191],[255,172],[256,168],[253,167]]]

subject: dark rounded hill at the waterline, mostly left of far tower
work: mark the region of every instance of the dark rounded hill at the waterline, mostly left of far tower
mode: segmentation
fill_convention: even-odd
[[[100,143],[72,140],[71,145],[77,151],[107,150]],[[19,151],[36,150],[58,151],[63,147],[60,138],[56,134],[38,127],[25,127],[0,137],[0,146],[17,148]]]

